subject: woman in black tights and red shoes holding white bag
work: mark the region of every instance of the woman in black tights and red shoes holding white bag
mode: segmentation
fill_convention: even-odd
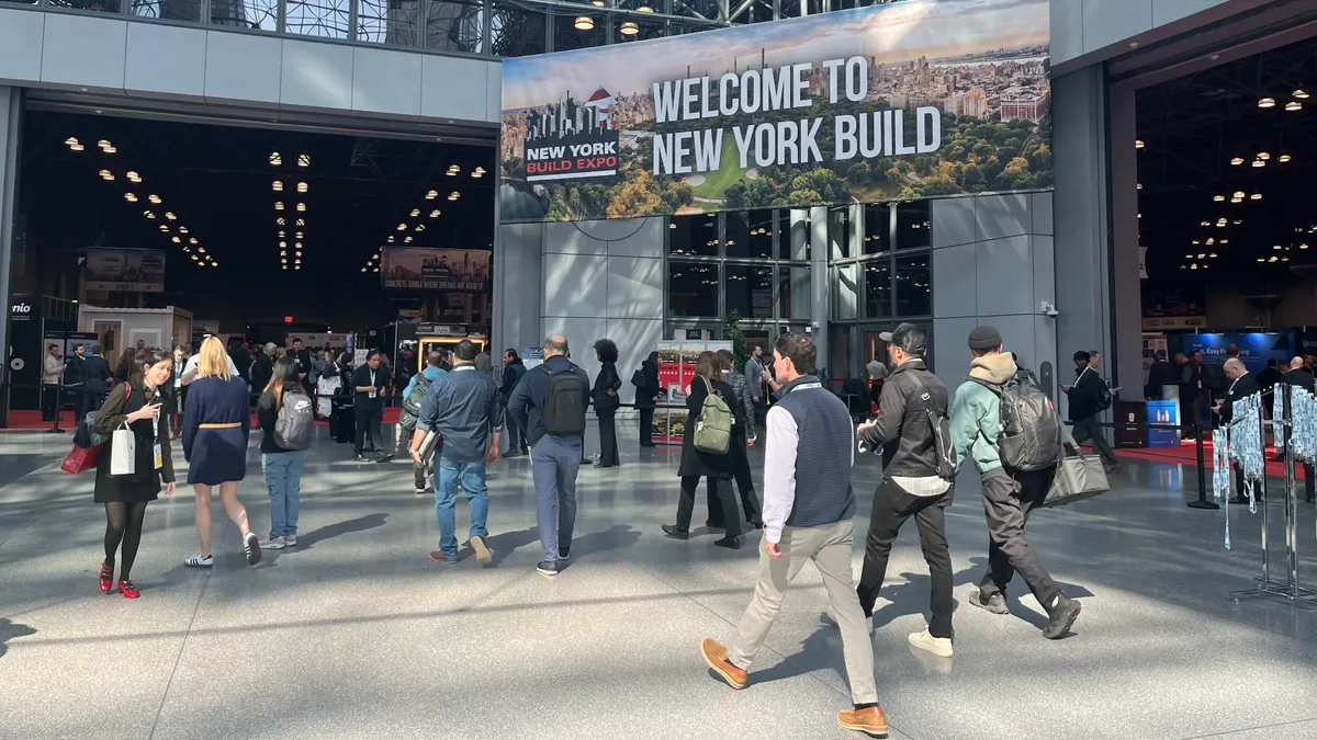
[[[109,593],[115,585],[119,556],[119,593],[125,599],[138,596],[133,585],[133,561],[142,541],[142,520],[148,502],[155,500],[163,482],[165,492],[174,494],[174,462],[170,460],[169,420],[161,413],[173,370],[173,358],[149,349],[129,361],[128,381],[115,386],[96,415],[96,432],[107,441],[96,461],[96,503],[105,506],[105,560],[100,564],[100,590]],[[111,475],[115,431],[122,425],[133,433],[133,471]]]

